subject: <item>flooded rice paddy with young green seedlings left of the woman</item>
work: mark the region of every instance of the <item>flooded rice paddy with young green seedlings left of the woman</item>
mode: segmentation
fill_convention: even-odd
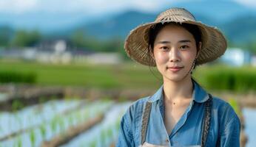
[[[110,146],[117,139],[121,116],[129,104],[71,98],[0,112],[0,146]],[[95,118],[100,119],[93,121]],[[70,135],[91,121],[90,128],[78,136]],[[56,137],[64,137],[66,142],[56,141]]]

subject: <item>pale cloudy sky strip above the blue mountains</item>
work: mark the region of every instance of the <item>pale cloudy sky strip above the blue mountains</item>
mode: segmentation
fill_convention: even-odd
[[[0,0],[0,13],[23,14],[30,12],[77,13],[100,15],[104,12],[117,12],[138,9],[146,12],[158,11],[165,4],[178,0]],[[234,0],[256,9],[255,0]]]

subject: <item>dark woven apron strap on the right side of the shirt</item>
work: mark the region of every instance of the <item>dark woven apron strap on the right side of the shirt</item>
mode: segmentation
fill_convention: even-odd
[[[209,127],[211,122],[212,114],[212,95],[208,94],[209,99],[205,102],[204,115],[203,115],[203,126],[201,135],[201,146],[206,146],[206,139],[209,133]]]

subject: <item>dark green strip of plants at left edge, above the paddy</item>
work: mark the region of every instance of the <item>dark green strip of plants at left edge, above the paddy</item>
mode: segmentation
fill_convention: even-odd
[[[18,71],[0,71],[0,82],[24,82],[35,83],[36,73],[34,72],[18,72]]]

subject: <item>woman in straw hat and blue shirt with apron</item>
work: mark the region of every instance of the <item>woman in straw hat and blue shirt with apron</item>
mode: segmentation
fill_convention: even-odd
[[[129,107],[117,146],[240,146],[238,115],[191,75],[196,65],[226,51],[218,29],[195,21],[183,8],[172,8],[133,29],[125,49],[136,62],[156,66],[163,85]]]

